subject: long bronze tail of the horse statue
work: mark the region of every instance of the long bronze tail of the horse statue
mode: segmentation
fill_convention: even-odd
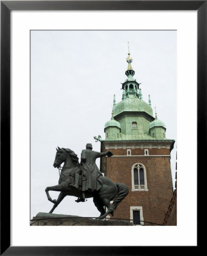
[[[110,205],[108,211],[113,216],[114,210],[117,208],[117,206],[121,203],[121,201],[128,195],[129,188],[124,183],[116,183],[118,188],[117,196],[115,197],[113,204]],[[109,214],[108,213],[108,214]]]

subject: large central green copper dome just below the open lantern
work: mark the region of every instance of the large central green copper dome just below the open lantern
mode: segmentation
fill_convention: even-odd
[[[139,98],[125,98],[121,102],[114,105],[114,117],[122,112],[146,112],[153,117],[152,108]]]

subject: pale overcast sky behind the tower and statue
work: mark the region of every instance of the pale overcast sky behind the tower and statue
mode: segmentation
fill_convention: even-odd
[[[100,151],[113,96],[122,99],[127,42],[134,78],[143,100],[176,140],[176,31],[31,31],[31,217],[49,212],[45,188],[58,184],[56,147],[71,148],[80,159],[86,143]],[[155,109],[154,109],[155,113]],[[155,116],[155,114],[154,114]],[[175,186],[176,143],[171,152]],[[99,159],[97,165],[100,166]],[[59,192],[50,192],[56,199]],[[93,199],[65,197],[53,213],[97,217]]]

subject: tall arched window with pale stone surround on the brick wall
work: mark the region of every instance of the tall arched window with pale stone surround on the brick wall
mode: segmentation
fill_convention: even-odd
[[[148,191],[146,168],[141,163],[135,163],[131,169],[132,191]]]

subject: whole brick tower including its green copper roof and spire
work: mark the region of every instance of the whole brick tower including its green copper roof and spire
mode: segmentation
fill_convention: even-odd
[[[165,138],[165,124],[148,103],[142,100],[139,83],[134,79],[130,53],[127,79],[122,84],[122,101],[116,103],[105,123],[101,152],[112,151],[101,159],[101,170],[115,183],[122,182],[129,194],[114,211],[114,218],[126,218],[134,224],[163,224],[165,210],[173,194],[171,150],[175,141]],[[145,221],[145,222],[142,222]]]

